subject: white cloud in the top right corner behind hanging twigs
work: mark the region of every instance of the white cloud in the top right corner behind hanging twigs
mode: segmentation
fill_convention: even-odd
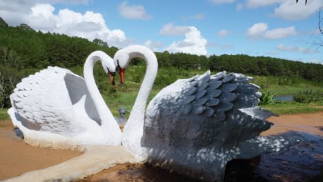
[[[280,7],[275,8],[275,16],[292,21],[306,19],[321,6],[323,6],[323,0],[308,1],[306,6],[304,3],[288,0],[284,1]]]

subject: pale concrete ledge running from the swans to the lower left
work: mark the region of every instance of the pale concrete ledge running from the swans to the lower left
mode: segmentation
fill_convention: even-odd
[[[104,169],[112,168],[119,163],[136,162],[135,156],[121,146],[88,146],[81,156],[5,181],[77,181]]]

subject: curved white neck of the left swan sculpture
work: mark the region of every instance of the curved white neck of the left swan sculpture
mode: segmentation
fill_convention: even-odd
[[[101,123],[104,125],[107,121],[114,121],[115,118],[104,102],[104,99],[102,98],[93,77],[93,68],[97,61],[101,61],[101,55],[99,55],[97,52],[93,52],[90,54],[88,59],[86,59],[86,62],[84,63],[84,79],[86,86],[88,87],[88,92],[90,93],[95,107],[97,108],[97,112],[101,118]]]

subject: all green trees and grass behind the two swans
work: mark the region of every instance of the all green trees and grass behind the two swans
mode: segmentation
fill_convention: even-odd
[[[110,47],[99,39],[88,41],[64,34],[36,32],[26,24],[10,27],[1,21],[0,108],[10,107],[9,95],[23,77],[35,74],[48,65],[68,68],[83,76],[84,61],[95,50],[102,50],[113,57],[118,48]],[[211,57],[167,51],[155,54],[159,70],[150,99],[177,79],[203,74],[206,70],[248,74],[255,78],[253,83],[260,85],[262,92],[275,91],[284,95],[312,89],[323,93],[323,65],[320,64],[244,54]],[[114,114],[121,105],[131,109],[145,70],[143,60],[133,59],[126,70],[126,84],[112,86],[101,66],[95,66],[99,90]]]

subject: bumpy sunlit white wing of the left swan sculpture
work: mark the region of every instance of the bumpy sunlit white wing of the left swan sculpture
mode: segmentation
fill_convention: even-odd
[[[74,77],[69,83],[66,83],[67,75]],[[71,112],[72,104],[77,101],[71,101],[68,92],[70,90],[67,89],[72,88],[72,85],[68,84],[74,84],[74,90],[87,92],[87,88],[77,87],[82,85],[77,78],[80,77],[69,70],[48,67],[22,79],[10,95],[12,108],[16,117],[19,117],[18,121],[30,130],[68,136],[80,132],[80,126],[72,122],[74,116]]]

